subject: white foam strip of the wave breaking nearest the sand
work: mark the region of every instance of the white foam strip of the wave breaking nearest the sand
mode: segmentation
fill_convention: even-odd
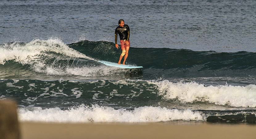
[[[161,107],[138,107],[134,111],[125,109],[115,110],[111,107],[85,107],[81,105],[69,110],[60,108],[42,109],[35,107],[28,111],[19,108],[19,120],[21,121],[44,121],[44,122],[160,122],[171,120],[204,120],[199,112],[191,110],[167,109]]]

